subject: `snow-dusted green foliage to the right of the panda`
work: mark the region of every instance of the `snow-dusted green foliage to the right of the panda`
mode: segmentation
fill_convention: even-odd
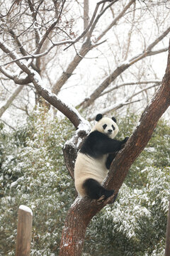
[[[120,120],[121,139],[137,117]],[[129,129],[129,130],[128,130]],[[86,235],[87,255],[163,256],[169,206],[170,127],[160,121],[147,148],[131,166],[117,201],[94,217]]]

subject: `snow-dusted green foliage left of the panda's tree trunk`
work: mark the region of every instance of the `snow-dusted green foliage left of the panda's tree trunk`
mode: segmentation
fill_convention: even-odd
[[[64,166],[62,146],[72,135],[66,119],[51,121],[38,110],[3,143],[1,159],[0,255],[13,255],[18,207],[33,210],[31,255],[55,255],[74,183]]]

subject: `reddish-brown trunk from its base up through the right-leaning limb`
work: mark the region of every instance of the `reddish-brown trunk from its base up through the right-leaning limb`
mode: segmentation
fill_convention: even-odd
[[[170,48],[166,73],[164,75],[162,86],[159,87],[151,103],[146,107],[142,114],[132,137],[128,140],[125,148],[115,157],[111,171],[105,182],[107,188],[113,188],[118,192],[122,186],[125,176],[128,174],[130,166],[137,156],[145,148],[152,132],[157,126],[157,122],[162,114],[170,105]],[[91,203],[89,199],[81,199],[74,202],[67,214],[62,239],[60,244],[60,256],[80,256],[83,245],[86,227],[91,218],[98,213],[106,202],[100,206]]]

